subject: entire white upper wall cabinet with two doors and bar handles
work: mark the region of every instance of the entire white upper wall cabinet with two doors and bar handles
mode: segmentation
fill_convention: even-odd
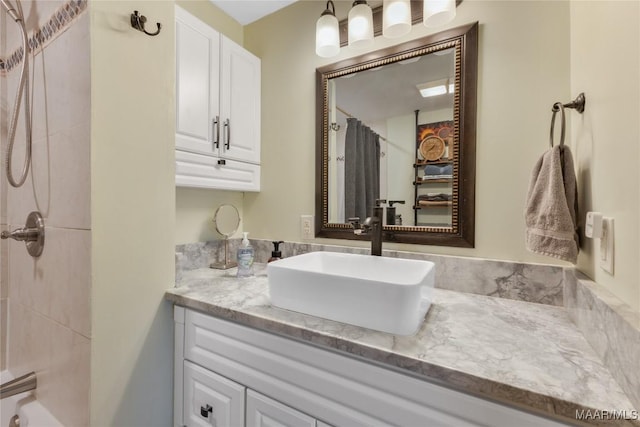
[[[260,59],[176,6],[176,185],[260,190]]]

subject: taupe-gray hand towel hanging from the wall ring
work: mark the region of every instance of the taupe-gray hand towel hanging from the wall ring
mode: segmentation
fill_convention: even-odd
[[[531,174],[525,210],[528,250],[576,263],[577,195],[571,151],[556,145],[542,155]]]

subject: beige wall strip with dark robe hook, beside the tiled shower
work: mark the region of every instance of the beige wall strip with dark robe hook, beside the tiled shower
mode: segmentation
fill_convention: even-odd
[[[92,426],[169,426],[174,5],[92,1]],[[160,35],[131,28],[139,10]]]

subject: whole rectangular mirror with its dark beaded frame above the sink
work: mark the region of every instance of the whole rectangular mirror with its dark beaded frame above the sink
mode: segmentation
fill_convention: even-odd
[[[316,229],[386,203],[386,241],[473,247],[478,24],[316,70]]]

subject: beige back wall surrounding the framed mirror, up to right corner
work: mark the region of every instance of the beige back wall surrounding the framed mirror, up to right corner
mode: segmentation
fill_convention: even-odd
[[[339,2],[338,15],[346,16],[350,4]],[[347,48],[335,59],[315,55],[315,21],[322,9],[317,2],[299,2],[245,30],[245,45],[262,58],[265,82],[263,188],[247,194],[244,206],[246,226],[257,237],[300,240],[300,215],[314,213],[314,73],[316,67],[352,56]],[[570,95],[569,5],[463,2],[450,26],[473,21],[480,22],[476,247],[388,247],[553,262],[525,250],[523,209],[530,171],[548,146],[550,107]],[[376,38],[373,49],[427,33],[415,25],[399,40]]]

